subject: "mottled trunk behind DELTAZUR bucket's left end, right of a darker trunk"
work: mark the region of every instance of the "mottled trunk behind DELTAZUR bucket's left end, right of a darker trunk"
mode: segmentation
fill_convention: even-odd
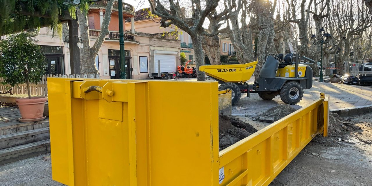
[[[221,51],[219,48],[218,36],[202,36],[202,39],[203,49],[205,51],[205,54],[208,56],[209,61],[211,61],[211,65],[220,65]]]

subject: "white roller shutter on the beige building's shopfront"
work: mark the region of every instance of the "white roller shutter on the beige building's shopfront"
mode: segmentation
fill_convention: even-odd
[[[160,72],[176,71],[176,55],[155,54],[154,55],[154,70],[158,73],[158,60],[160,60]]]

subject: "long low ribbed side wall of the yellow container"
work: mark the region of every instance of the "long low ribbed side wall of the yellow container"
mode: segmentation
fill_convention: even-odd
[[[219,152],[221,186],[269,185],[315,135],[327,128],[328,100],[329,96],[325,99],[321,93],[311,105]]]

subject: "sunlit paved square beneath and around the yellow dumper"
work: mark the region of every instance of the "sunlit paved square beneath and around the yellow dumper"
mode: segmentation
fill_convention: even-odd
[[[309,103],[319,99],[320,93],[330,95],[330,109],[342,109],[355,106],[372,105],[371,86],[353,86],[345,84],[313,82],[313,87],[304,90],[304,97],[293,108],[299,109]],[[242,94],[240,101],[232,106],[232,114],[235,115],[254,115],[262,113],[276,105],[284,104],[279,96],[273,100],[262,100],[258,94],[252,93],[251,97]]]

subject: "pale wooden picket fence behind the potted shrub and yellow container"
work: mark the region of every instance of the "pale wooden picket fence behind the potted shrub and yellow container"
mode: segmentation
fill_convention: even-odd
[[[61,77],[61,78],[99,78],[99,74],[57,74],[57,75],[44,75],[41,80],[36,84],[29,84],[31,95],[37,96],[48,96],[48,77]],[[28,94],[27,85],[19,84],[18,86],[10,87],[10,85],[3,85],[3,78],[0,78],[0,91],[7,92],[10,88],[12,88],[13,94]],[[7,95],[7,94],[3,94]]]

